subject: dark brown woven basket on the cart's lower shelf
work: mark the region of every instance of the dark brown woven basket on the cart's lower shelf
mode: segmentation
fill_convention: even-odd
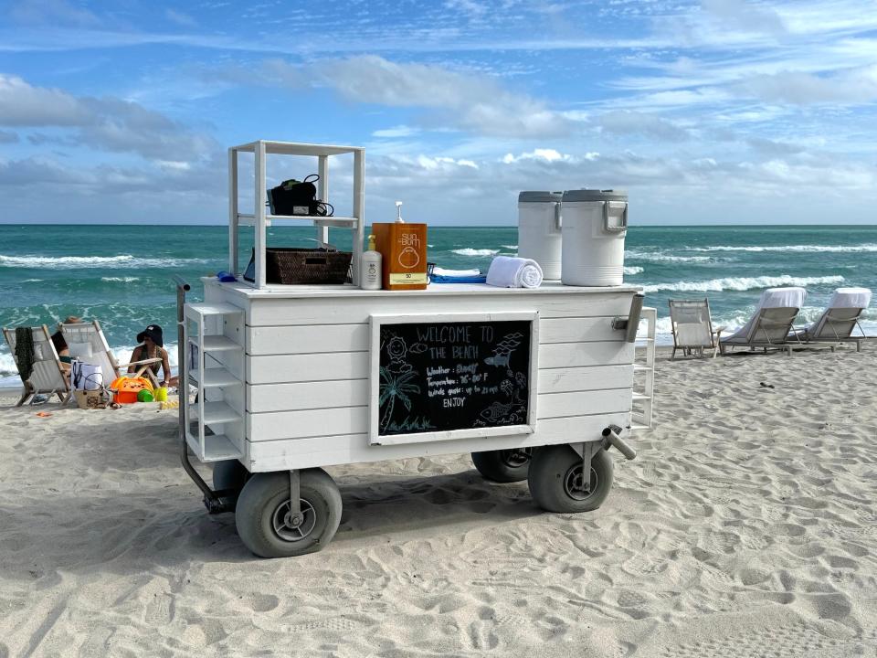
[[[269,247],[265,249],[265,281],[295,283],[344,283],[350,272],[349,251]]]

